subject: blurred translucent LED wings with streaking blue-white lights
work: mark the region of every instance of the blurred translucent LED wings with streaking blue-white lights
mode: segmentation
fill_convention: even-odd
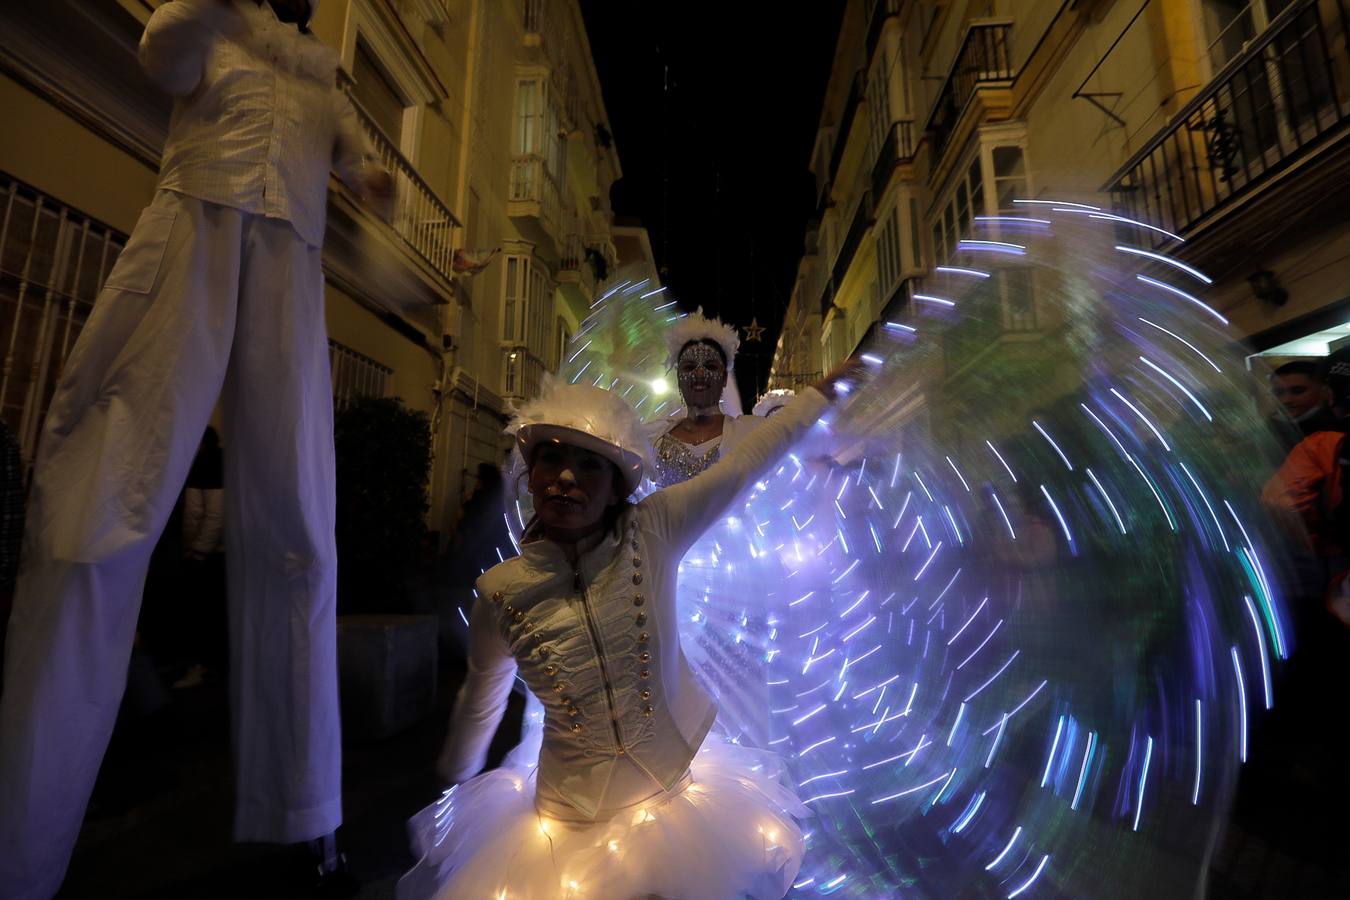
[[[1204,277],[1025,205],[680,564],[691,669],[729,727],[764,696],[738,733],[814,814],[803,895],[1193,895],[1291,652],[1282,453]],[[662,416],[670,306],[621,273],[560,375]]]

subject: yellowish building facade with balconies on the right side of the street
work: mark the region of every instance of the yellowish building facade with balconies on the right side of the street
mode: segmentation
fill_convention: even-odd
[[[1146,221],[1129,239],[1207,271],[1254,352],[1326,354],[1350,333],[1347,35],[1335,0],[850,0],[771,386],[903,320],[1015,198]],[[1000,313],[949,368],[1056,327],[1034,291]]]

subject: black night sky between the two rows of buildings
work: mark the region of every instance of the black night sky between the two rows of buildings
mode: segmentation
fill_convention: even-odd
[[[624,167],[614,213],[647,227],[684,308],[768,327],[759,344],[742,335],[749,397],[768,372],[814,210],[807,165],[844,3],[580,5]]]

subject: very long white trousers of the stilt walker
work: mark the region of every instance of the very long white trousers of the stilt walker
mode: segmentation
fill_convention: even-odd
[[[0,699],[0,897],[55,893],[127,679],[150,553],[223,393],[235,838],[342,822],[320,250],[159,192],[43,428]]]

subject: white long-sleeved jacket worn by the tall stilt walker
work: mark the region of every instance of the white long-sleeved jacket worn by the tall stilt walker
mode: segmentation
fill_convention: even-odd
[[[320,247],[328,173],[360,190],[374,154],[338,89],[338,54],[252,0],[174,0],[140,38],[140,65],[171,94],[159,188],[289,221]]]

